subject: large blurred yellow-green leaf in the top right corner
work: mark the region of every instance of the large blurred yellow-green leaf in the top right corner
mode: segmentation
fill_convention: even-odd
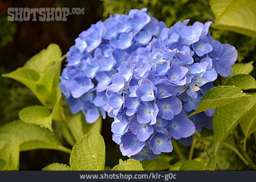
[[[256,38],[256,1],[213,0],[210,3],[216,20],[213,28],[234,31]],[[220,10],[217,10],[221,7]]]

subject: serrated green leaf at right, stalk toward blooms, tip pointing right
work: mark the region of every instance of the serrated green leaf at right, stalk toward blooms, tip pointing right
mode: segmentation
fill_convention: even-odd
[[[188,117],[191,117],[192,115],[200,113],[204,110],[231,104],[232,102],[240,100],[244,97],[247,97],[246,94],[234,86],[214,87],[204,94],[204,97],[197,106],[197,110],[192,114],[189,114]]]

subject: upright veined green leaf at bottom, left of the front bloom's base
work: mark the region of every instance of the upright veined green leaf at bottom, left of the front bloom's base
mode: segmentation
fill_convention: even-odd
[[[100,133],[84,135],[73,147],[69,163],[73,171],[103,171],[105,143]]]

